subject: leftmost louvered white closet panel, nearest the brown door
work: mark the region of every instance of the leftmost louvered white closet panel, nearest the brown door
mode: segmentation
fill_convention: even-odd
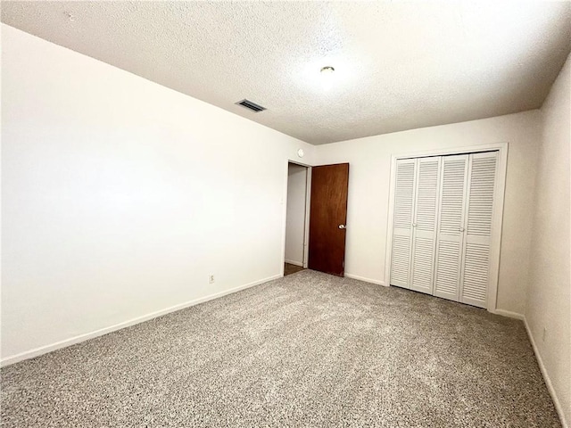
[[[399,160],[396,163],[391,284],[404,288],[410,288],[415,163],[414,159]]]

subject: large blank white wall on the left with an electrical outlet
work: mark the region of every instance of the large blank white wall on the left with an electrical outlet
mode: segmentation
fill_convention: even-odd
[[[2,50],[4,362],[281,275],[314,146],[6,25]]]

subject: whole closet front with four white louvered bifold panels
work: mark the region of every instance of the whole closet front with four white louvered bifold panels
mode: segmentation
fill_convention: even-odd
[[[387,284],[496,310],[507,149],[393,156]]]

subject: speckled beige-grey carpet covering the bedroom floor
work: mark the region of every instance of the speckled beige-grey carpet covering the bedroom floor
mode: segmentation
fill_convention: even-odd
[[[4,367],[4,427],[558,427],[524,325],[304,270]]]

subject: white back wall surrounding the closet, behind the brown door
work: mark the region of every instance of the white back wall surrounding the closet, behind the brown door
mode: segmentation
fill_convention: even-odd
[[[392,154],[508,142],[497,306],[522,315],[529,275],[527,260],[539,139],[539,111],[527,111],[318,146],[320,163],[351,164],[346,275],[388,283],[385,240]]]

